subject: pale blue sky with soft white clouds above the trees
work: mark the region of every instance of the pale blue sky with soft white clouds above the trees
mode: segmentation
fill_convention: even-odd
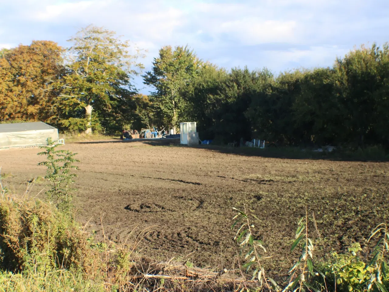
[[[355,46],[389,41],[388,0],[0,0],[0,48],[67,40],[89,24],[147,51],[185,46],[230,69],[332,66]],[[147,94],[140,77],[137,88]]]

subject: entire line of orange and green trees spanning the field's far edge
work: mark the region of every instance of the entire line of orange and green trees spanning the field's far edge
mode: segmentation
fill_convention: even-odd
[[[196,121],[200,138],[278,145],[389,147],[389,47],[361,46],[327,68],[274,75],[226,70],[187,46],[162,47],[142,74],[142,51],[88,26],[62,48],[34,41],[0,52],[0,121],[45,121],[61,130],[174,128]],[[131,53],[130,53],[131,52]]]

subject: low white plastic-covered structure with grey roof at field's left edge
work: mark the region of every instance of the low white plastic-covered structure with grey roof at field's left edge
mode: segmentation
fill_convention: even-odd
[[[0,149],[46,145],[58,142],[58,129],[43,122],[0,124]]]

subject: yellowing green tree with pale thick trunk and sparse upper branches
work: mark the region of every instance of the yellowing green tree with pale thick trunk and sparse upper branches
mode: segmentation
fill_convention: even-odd
[[[96,26],[79,31],[67,51],[66,73],[59,87],[60,110],[64,119],[82,118],[85,112],[86,133],[91,133],[92,112],[106,124],[123,120],[123,111],[134,93],[130,82],[143,69],[137,59],[144,57],[115,32]]]

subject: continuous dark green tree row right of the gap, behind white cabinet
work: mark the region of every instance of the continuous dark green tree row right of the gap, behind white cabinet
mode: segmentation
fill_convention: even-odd
[[[156,88],[150,100],[165,123],[196,121],[200,137],[222,143],[255,138],[291,146],[389,147],[388,44],[361,46],[333,67],[277,76],[266,68],[227,71],[186,47],[171,50],[162,48],[144,75]]]

